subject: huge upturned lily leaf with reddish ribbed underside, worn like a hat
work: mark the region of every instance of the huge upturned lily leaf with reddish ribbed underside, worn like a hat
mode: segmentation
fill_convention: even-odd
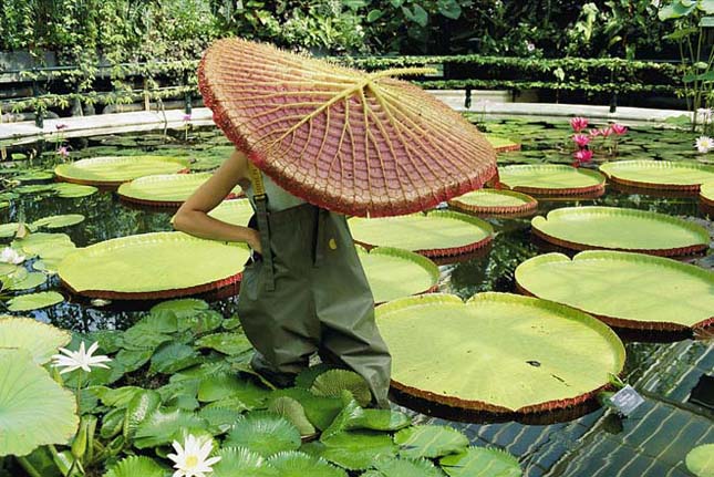
[[[356,216],[425,210],[496,174],[493,147],[417,86],[240,39],[215,42],[198,84],[214,121],[279,186]]]

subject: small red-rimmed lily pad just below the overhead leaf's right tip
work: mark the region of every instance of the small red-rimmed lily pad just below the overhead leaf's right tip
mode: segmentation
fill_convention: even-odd
[[[472,214],[521,214],[538,207],[538,200],[515,190],[480,189],[448,201],[449,207]]]

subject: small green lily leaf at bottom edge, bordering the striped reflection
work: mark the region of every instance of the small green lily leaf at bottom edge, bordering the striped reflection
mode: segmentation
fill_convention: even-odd
[[[505,450],[469,447],[442,457],[439,465],[449,477],[520,477],[518,459]]]

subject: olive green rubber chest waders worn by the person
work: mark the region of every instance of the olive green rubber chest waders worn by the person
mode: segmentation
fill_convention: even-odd
[[[376,404],[389,407],[392,361],[345,218],[309,204],[269,212],[257,180],[251,222],[263,253],[246,266],[238,298],[238,315],[256,349],[252,367],[294,376],[319,352],[363,376]]]

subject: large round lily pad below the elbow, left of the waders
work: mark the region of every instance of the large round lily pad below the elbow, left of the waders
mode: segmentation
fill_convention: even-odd
[[[69,289],[91,298],[169,298],[234,283],[247,259],[241,245],[155,232],[81,249],[62,261],[59,273]]]

